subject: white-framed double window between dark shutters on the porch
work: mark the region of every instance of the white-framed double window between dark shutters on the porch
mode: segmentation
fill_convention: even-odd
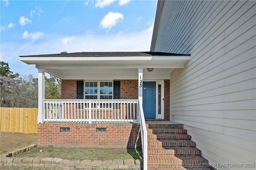
[[[113,99],[112,81],[85,81],[85,99]]]

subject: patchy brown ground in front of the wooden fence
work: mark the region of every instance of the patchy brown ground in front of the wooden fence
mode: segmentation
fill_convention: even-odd
[[[0,132],[0,155],[37,143],[37,134]]]

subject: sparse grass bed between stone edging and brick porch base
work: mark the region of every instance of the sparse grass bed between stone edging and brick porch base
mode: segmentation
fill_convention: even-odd
[[[39,150],[43,152],[39,152]],[[140,159],[141,150],[125,148],[56,148],[36,147],[22,152],[18,157],[57,157],[69,160],[109,160],[109,159]]]

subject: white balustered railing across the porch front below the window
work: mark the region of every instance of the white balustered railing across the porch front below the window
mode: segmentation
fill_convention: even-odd
[[[43,100],[45,121],[137,122],[138,100]]]

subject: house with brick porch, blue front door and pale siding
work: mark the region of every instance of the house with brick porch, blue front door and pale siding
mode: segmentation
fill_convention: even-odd
[[[253,166],[255,10],[158,1],[150,52],[20,56],[38,69],[38,145],[142,147],[144,169]],[[45,72],[61,99],[45,100]]]

